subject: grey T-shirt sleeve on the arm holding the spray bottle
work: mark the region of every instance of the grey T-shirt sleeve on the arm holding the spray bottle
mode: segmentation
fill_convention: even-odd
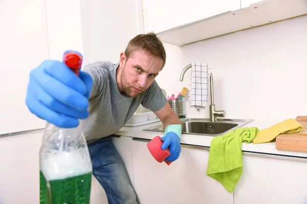
[[[99,67],[99,63],[94,62],[92,64],[88,64],[81,69],[82,72],[86,72],[90,74],[93,78],[93,88],[89,99],[94,98],[100,92],[102,92],[104,86],[104,72]]]

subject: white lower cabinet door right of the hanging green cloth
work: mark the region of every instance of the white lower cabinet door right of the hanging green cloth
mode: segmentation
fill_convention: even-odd
[[[307,203],[307,162],[249,155],[243,156],[243,162],[235,204]]]

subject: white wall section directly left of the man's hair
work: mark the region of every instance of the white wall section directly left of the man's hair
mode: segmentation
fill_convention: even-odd
[[[142,32],[139,6],[138,0],[81,0],[83,65],[119,61],[128,41]]]

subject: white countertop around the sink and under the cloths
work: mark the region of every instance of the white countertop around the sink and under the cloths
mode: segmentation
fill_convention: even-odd
[[[272,121],[253,121],[243,127],[258,127],[259,130],[270,127],[276,123],[272,123]],[[133,137],[133,138],[141,138],[141,139],[153,139],[157,135],[163,137],[163,132],[156,132],[156,131],[144,131],[143,129],[162,125],[162,122],[155,122],[149,123],[140,126],[134,127],[123,127],[119,131],[114,134],[123,135],[126,137]],[[205,147],[210,147],[211,140],[214,137],[206,136],[206,135],[197,135],[197,134],[182,134],[181,136],[181,143],[187,145],[200,145]],[[295,152],[295,151],[282,151],[276,149],[275,142],[269,143],[261,143],[261,144],[242,144],[243,151],[252,151],[252,152],[259,152],[259,153],[270,153],[270,154],[279,154],[279,155],[290,155],[290,156],[300,156],[307,158],[307,152]]]

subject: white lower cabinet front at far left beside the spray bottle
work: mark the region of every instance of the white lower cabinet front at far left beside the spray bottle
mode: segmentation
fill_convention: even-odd
[[[43,131],[0,138],[0,203],[39,203]],[[91,203],[92,204],[92,203]]]

